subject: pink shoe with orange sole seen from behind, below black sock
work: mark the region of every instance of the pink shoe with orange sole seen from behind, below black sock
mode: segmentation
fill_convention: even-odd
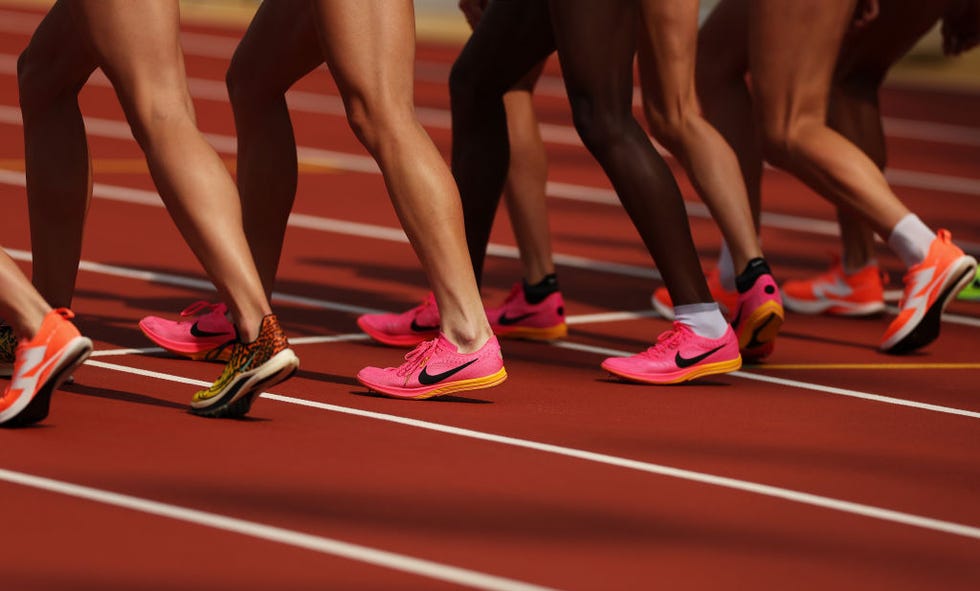
[[[732,328],[742,357],[760,361],[772,355],[785,317],[776,280],[769,273],[760,275],[747,292],[738,294],[735,305]]]

